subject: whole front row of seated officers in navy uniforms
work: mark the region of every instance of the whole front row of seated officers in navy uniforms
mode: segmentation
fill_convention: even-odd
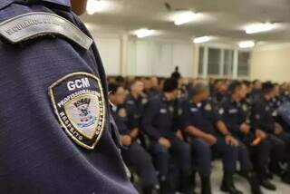
[[[143,193],[194,193],[198,173],[201,193],[211,194],[212,158],[222,160],[220,189],[227,193],[243,193],[235,187],[236,172],[253,194],[262,194],[261,187],[276,189],[272,173],[290,183],[290,135],[275,118],[280,101],[272,82],[263,83],[255,102],[249,101],[247,84],[238,81],[229,84],[220,101],[218,92],[210,95],[202,82],[179,95],[173,78],[163,83],[162,92],[147,95],[140,80],[131,82],[127,95],[116,82],[109,89],[121,155],[140,176]]]

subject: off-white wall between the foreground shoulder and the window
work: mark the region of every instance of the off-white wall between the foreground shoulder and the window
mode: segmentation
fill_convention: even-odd
[[[175,66],[179,66],[183,76],[194,75],[194,46],[190,40],[136,39],[124,38],[124,35],[119,34],[92,34],[108,75],[168,77]]]

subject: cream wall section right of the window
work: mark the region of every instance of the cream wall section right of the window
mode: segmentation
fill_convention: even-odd
[[[290,81],[290,45],[257,48],[251,58],[251,79]]]

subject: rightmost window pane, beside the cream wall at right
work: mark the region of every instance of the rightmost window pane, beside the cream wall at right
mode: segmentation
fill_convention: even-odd
[[[248,76],[250,66],[250,53],[238,52],[237,76]]]

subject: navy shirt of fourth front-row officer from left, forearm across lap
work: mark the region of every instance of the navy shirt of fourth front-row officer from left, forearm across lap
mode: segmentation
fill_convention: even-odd
[[[211,102],[186,102],[182,115],[183,129],[194,126],[200,131],[216,134],[215,125],[220,118]]]

